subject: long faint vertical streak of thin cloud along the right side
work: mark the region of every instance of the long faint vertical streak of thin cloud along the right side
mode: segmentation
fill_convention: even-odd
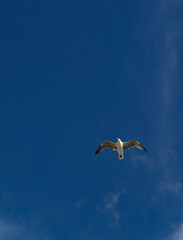
[[[174,124],[172,115],[176,104],[176,77],[179,64],[177,41],[180,38],[180,25],[177,21],[169,20],[168,12],[178,6],[179,1],[162,0],[159,8],[159,18],[162,22],[161,39],[164,41],[160,53],[160,68],[158,77],[159,97],[157,99],[160,112],[158,114],[157,157],[161,170],[161,180],[158,182],[160,192],[172,194],[181,193],[180,176],[174,174],[172,162],[176,160]]]

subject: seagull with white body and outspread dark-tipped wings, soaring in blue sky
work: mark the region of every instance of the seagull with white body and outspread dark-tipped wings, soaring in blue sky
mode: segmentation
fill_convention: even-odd
[[[112,150],[118,151],[119,159],[123,159],[123,149],[130,149],[131,147],[137,147],[143,151],[147,152],[147,149],[143,147],[137,140],[131,139],[128,142],[122,142],[121,139],[117,138],[117,142],[105,141],[103,142],[95,152],[95,155],[104,150],[105,148],[110,148]]]

